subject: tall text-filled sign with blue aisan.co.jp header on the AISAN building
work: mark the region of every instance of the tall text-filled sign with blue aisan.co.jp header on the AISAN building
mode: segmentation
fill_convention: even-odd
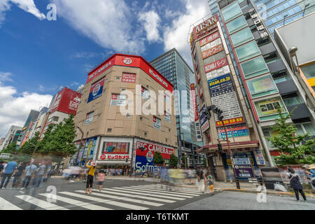
[[[208,80],[212,105],[223,111],[225,125],[244,123],[230,73]],[[216,126],[223,123],[216,116]]]

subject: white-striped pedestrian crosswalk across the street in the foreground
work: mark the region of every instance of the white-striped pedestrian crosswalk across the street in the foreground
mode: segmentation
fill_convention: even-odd
[[[93,190],[85,194],[84,190],[57,192],[55,201],[50,193],[38,195],[15,195],[14,200],[0,197],[0,210],[148,210],[163,209],[167,204],[176,204],[204,195],[196,188],[169,187],[163,184],[145,184],[140,186],[122,186]],[[1,196],[1,195],[0,195]]]

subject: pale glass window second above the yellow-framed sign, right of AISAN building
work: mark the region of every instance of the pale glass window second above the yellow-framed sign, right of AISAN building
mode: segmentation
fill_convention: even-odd
[[[248,62],[241,64],[241,70],[243,70],[245,78],[258,76],[262,73],[267,73],[269,70],[263,57],[255,57]]]

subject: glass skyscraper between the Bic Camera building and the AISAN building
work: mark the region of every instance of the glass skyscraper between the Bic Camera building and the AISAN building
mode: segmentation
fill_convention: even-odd
[[[196,132],[194,109],[190,97],[190,85],[195,83],[193,71],[175,48],[153,59],[150,64],[174,85],[174,90],[179,91],[179,94],[174,94],[176,110],[179,111],[176,115],[179,151],[181,151],[181,158],[187,153],[190,161],[193,163],[193,158],[195,158],[197,164],[200,162],[197,160],[198,155],[195,153],[193,157],[192,152],[203,144],[200,129],[197,130],[199,133]]]

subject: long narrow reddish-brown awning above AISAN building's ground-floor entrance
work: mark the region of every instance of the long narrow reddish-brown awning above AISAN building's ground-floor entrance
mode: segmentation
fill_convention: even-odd
[[[231,142],[231,149],[241,149],[241,148],[255,148],[259,146],[259,141],[240,141],[240,142]],[[223,151],[228,150],[228,144],[222,144]],[[218,144],[204,146],[197,149],[197,153],[214,153],[218,151]]]

